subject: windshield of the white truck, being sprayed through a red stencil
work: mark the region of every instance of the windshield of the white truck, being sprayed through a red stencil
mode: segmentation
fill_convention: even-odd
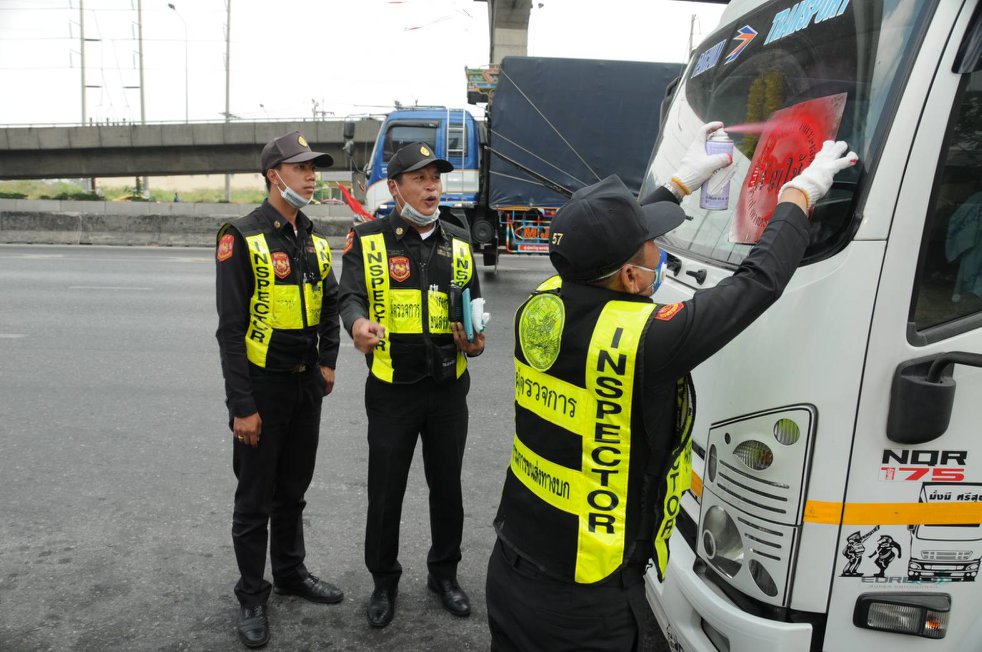
[[[826,139],[845,140],[860,165],[818,203],[808,258],[850,234],[860,174],[889,127],[905,70],[934,2],[779,0],[741,16],[693,53],[639,194],[644,202],[678,169],[699,126],[723,121],[734,141],[729,206],[683,200],[692,219],[662,244],[737,265],[759,239],[778,191]]]

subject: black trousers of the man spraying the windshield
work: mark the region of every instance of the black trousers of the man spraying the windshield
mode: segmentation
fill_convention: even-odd
[[[627,652],[640,644],[648,609],[641,571],[603,585],[542,574],[500,540],[488,561],[487,604],[494,652]]]

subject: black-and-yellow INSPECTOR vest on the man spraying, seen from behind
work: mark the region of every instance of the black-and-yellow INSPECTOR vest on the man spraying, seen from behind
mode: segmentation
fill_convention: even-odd
[[[515,439],[495,527],[558,579],[595,584],[649,559],[663,576],[693,405],[689,379],[678,381],[676,440],[652,476],[640,367],[656,308],[599,288],[564,293],[553,278],[516,313]]]

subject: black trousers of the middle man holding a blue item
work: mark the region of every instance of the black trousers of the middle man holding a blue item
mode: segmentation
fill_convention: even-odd
[[[467,442],[467,372],[451,382],[432,379],[397,385],[372,375],[365,382],[368,414],[368,522],[365,565],[377,587],[395,588],[399,521],[416,440],[423,441],[423,469],[430,491],[430,573],[455,579],[460,561],[464,506],[460,469]]]

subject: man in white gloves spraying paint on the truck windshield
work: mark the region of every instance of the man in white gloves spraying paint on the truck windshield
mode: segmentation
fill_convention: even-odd
[[[705,154],[721,126],[701,130],[681,183],[655,203],[640,206],[612,176],[552,222],[559,274],[515,315],[515,440],[487,575],[493,650],[637,648],[644,570],[664,578],[691,474],[689,372],[781,295],[808,244],[808,208],[856,160],[826,143],[730,278],[652,303],[666,266],[653,239],[685,219],[678,195],[728,164]]]

